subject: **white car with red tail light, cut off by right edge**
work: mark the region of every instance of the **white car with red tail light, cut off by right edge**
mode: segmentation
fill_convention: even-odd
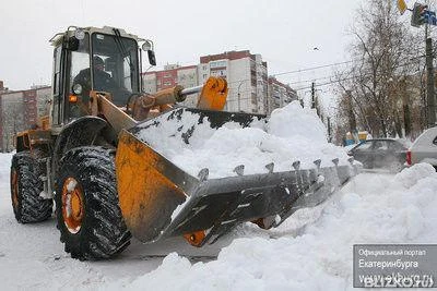
[[[424,131],[406,153],[406,165],[428,162],[437,169],[437,126]]]

